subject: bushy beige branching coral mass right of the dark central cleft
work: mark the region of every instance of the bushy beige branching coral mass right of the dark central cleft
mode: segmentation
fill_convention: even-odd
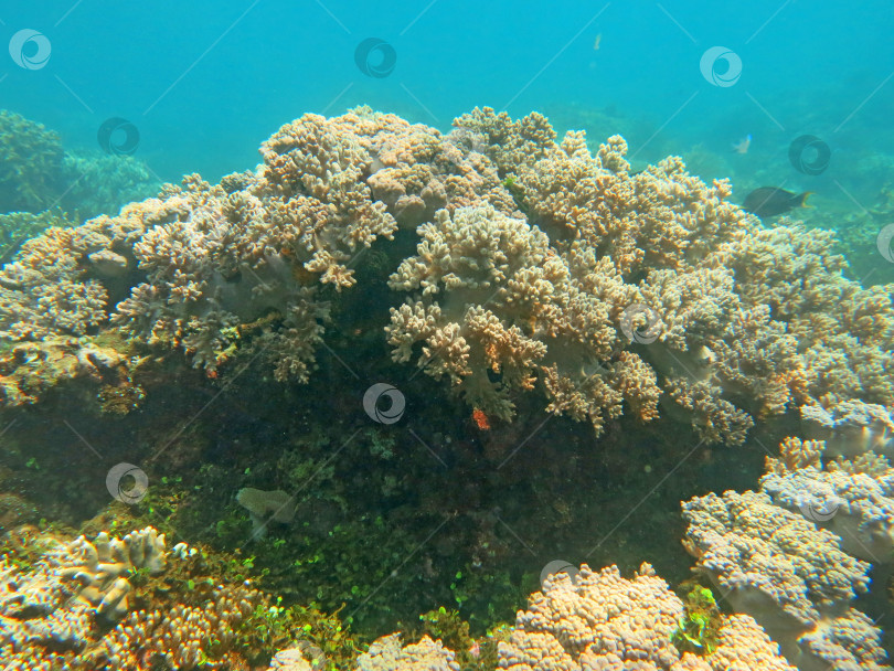
[[[504,115],[476,118],[457,124],[520,132]],[[483,206],[418,228],[417,255],[391,278],[414,291],[392,311],[398,361],[423,342],[418,365],[485,412],[511,417],[508,392],[541,386],[549,411],[589,418],[597,433],[624,402],[656,416],[657,381],[710,441],[742,443],[751,415],[792,402],[858,393],[890,403],[891,300],[843,277],[830,235],[760,228],[725,200],[727,183],[707,188],[677,158],[630,174],[619,137],[595,157],[583,134],[540,140],[522,151],[533,159],[512,159],[524,220]],[[510,160],[493,148],[490,158]],[[486,334],[470,321],[476,306],[487,310]],[[828,323],[817,328],[819,319]],[[503,361],[501,349],[517,358]]]

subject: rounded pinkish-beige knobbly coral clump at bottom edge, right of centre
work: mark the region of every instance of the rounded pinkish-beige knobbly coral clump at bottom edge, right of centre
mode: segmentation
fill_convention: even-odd
[[[558,574],[531,596],[509,641],[499,646],[499,668],[794,671],[746,615],[724,616],[711,654],[681,654],[671,637],[682,618],[683,603],[648,564],[629,581],[617,566],[594,573],[583,565],[574,581]]]

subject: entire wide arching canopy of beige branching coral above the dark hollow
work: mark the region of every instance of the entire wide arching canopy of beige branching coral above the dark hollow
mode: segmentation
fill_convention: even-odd
[[[0,271],[0,338],[77,356],[115,331],[211,376],[263,354],[277,380],[304,382],[342,297],[381,300],[355,277],[381,263],[376,245],[400,306],[394,359],[485,416],[510,419],[538,390],[598,434],[624,413],[654,419],[661,401],[705,440],[737,444],[789,408],[894,404],[890,294],[844,277],[831,234],[765,230],[679,158],[632,173],[618,136],[590,155],[583,132],[556,143],[536,113],[455,124],[444,136],[369,108],[308,114],[255,171],[190,175],[51,228]],[[415,254],[389,257],[416,226]],[[8,358],[4,404],[40,394],[15,374],[40,358]]]

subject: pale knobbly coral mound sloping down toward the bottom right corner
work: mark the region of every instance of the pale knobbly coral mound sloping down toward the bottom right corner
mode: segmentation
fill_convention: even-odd
[[[787,445],[784,459],[802,458],[802,445]],[[763,492],[695,498],[683,503],[683,516],[684,546],[699,572],[801,671],[890,669],[882,665],[881,630],[851,606],[869,590],[870,565],[847,554],[839,536]]]

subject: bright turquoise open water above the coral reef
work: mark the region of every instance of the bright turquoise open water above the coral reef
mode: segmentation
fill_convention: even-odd
[[[722,157],[695,160],[717,173],[705,178],[847,188],[856,200],[877,190],[894,156],[894,11],[882,0],[82,0],[2,2],[0,22],[4,46],[23,28],[52,44],[35,71],[0,54],[0,107],[72,148],[96,148],[103,121],[124,117],[140,132],[135,156],[163,180],[252,168],[281,124],[360,104],[443,130],[475,106],[536,109],[562,130],[586,128],[592,142],[626,130],[635,163],[698,147]],[[355,64],[370,36],[394,49],[389,76]],[[715,45],[742,58],[733,86],[700,72]],[[833,152],[822,175],[788,162],[805,132]],[[747,134],[749,155],[727,157]]]

